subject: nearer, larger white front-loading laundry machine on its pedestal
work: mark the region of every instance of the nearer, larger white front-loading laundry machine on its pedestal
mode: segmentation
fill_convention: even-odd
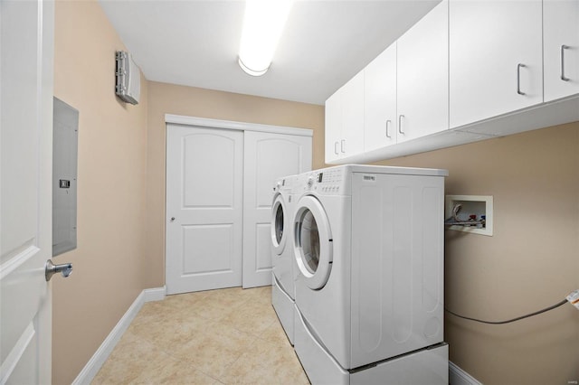
[[[448,383],[447,175],[343,165],[296,178],[295,350],[313,383],[395,378],[410,362],[413,383]]]

